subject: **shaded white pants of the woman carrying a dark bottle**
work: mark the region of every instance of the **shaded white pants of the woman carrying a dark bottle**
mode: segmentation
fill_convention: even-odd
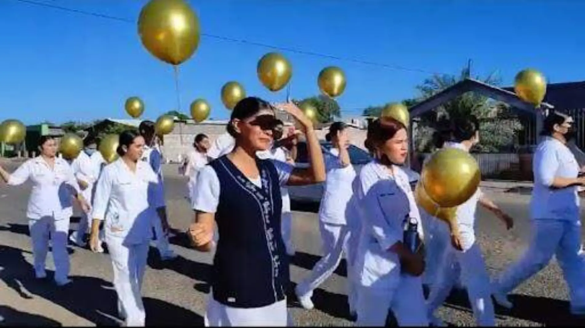
[[[398,326],[428,326],[425,295],[420,277],[400,275],[393,291],[360,285],[357,299],[356,326],[384,327],[388,310],[392,309]]]

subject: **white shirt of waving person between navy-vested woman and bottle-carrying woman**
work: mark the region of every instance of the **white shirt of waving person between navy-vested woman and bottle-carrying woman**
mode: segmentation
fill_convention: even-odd
[[[342,166],[339,150],[332,148],[324,153],[325,191],[319,207],[319,219],[328,224],[347,225],[346,210],[353,196],[352,182],[356,177],[353,165]]]

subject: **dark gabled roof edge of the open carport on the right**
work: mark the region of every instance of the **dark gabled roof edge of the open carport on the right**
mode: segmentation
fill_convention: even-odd
[[[468,91],[479,92],[487,97],[490,97],[491,99],[510,104],[512,107],[526,111],[530,114],[535,113],[534,106],[519,99],[513,90],[497,88],[496,86],[488,85],[487,83],[477,81],[476,79],[464,79],[463,81],[458,82],[455,85],[452,85],[449,88],[437,93],[436,95],[433,95],[432,97],[429,97],[428,99],[412,106],[409,109],[410,116],[413,118],[421,116],[421,114],[424,114],[429,110],[433,110],[436,107],[441,106],[441,104],[448,102],[449,100]],[[543,102],[541,107],[552,109],[555,106],[552,106],[552,104],[548,102]]]

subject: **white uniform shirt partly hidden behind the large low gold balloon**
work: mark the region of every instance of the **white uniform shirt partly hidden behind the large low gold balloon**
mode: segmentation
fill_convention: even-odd
[[[462,149],[463,151],[467,151],[467,149],[465,149],[465,147],[459,142],[445,142],[443,148],[458,148]],[[456,210],[457,226],[459,227],[459,232],[461,233],[463,250],[467,250],[471,246],[473,246],[473,243],[476,240],[475,219],[477,211],[477,202],[479,202],[479,199],[481,198],[482,195],[483,193],[481,192],[481,189],[478,187],[471,198],[469,198],[465,203],[457,206]]]

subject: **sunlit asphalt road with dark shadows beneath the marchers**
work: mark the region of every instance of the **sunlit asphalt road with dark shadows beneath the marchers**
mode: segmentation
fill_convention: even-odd
[[[192,213],[184,199],[185,180],[176,176],[175,166],[168,166],[166,173],[171,225],[178,231],[185,231],[192,221]],[[36,281],[33,278],[30,239],[24,217],[29,189],[29,186],[8,189],[0,184],[0,315],[6,319],[0,324],[118,324],[108,254],[94,254],[71,246],[71,278],[74,282],[66,289],[60,290],[50,281]],[[514,230],[507,232],[497,219],[486,212],[479,213],[478,239],[491,273],[517,259],[526,247],[529,236],[526,192],[487,190],[516,219]],[[321,241],[316,220],[314,213],[294,212],[293,238],[297,245],[297,254],[291,265],[294,282],[307,275],[319,259]],[[72,229],[76,226],[76,222],[71,224]],[[168,263],[161,263],[157,252],[151,247],[143,285],[147,325],[201,326],[211,256],[189,249],[184,236],[179,235],[171,242],[180,257]],[[47,263],[53,270],[50,254]],[[49,277],[51,275],[52,272]],[[514,310],[508,312],[497,308],[500,325],[585,324],[585,320],[572,317],[568,312],[566,286],[554,260],[514,293],[511,295],[516,305]],[[304,310],[294,299],[290,300],[290,309],[298,326],[349,326],[352,322],[347,319],[346,299],[345,273],[343,269],[338,269],[315,291],[315,309]],[[452,293],[439,310],[439,316],[457,326],[474,325],[463,291]]]

